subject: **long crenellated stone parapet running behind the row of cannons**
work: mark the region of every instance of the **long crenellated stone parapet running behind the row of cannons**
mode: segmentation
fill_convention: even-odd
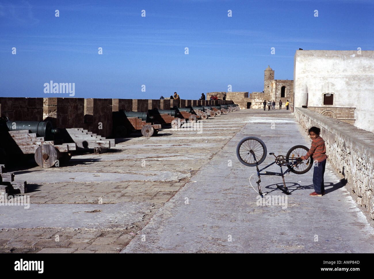
[[[0,97],[0,115],[10,120],[43,121],[49,120],[55,128],[85,128],[103,137],[112,131],[112,112],[147,112],[148,109],[170,109],[186,107],[189,104],[215,105],[232,101],[209,100],[148,100],[110,98],[8,98]],[[100,124],[101,123],[101,124]]]

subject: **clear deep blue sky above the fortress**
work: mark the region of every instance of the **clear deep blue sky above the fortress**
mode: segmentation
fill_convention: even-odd
[[[262,91],[269,64],[293,79],[299,48],[373,50],[373,15],[372,0],[0,1],[0,97],[68,97],[51,80],[80,98]]]

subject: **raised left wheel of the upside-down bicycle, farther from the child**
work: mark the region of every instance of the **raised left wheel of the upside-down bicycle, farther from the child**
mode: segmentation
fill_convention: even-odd
[[[265,160],[267,153],[265,143],[258,137],[245,137],[236,146],[236,156],[240,163],[248,167],[256,166],[250,150],[255,153],[257,164],[261,164]]]

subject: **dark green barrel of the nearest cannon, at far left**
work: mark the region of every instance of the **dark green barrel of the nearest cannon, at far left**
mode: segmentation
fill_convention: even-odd
[[[7,121],[6,126],[9,131],[29,130],[46,139],[50,139],[52,134],[59,132],[58,129],[53,129],[50,121]]]

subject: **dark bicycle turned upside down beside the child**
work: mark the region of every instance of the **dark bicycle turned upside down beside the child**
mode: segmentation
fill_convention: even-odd
[[[295,145],[292,146],[286,156],[278,155],[275,156],[274,153],[269,153],[269,155],[274,155],[275,161],[266,167],[262,168],[261,170],[258,169],[258,165],[263,163],[263,161],[266,158],[266,145],[265,143],[257,138],[257,137],[245,137],[244,139],[240,140],[236,147],[236,156],[239,159],[240,163],[244,164],[245,166],[249,167],[256,167],[257,169],[257,176],[258,181],[256,182],[258,185],[258,191],[261,197],[263,196],[263,193],[261,191],[260,182],[261,177],[260,175],[278,175],[282,176],[283,179],[283,186],[279,186],[277,184],[277,188],[282,190],[285,194],[290,195],[291,193],[288,191],[288,188],[286,187],[284,176],[288,175],[289,172],[302,175],[304,173],[309,172],[309,170],[312,168],[313,158],[310,156],[307,160],[301,160],[301,156],[305,156],[307,152],[309,151],[309,148],[307,148],[304,145]],[[264,169],[267,169],[268,167],[272,166],[273,164],[277,164],[279,167],[281,167],[281,172],[265,172],[260,173]],[[282,166],[287,167],[287,170],[283,172]]]

